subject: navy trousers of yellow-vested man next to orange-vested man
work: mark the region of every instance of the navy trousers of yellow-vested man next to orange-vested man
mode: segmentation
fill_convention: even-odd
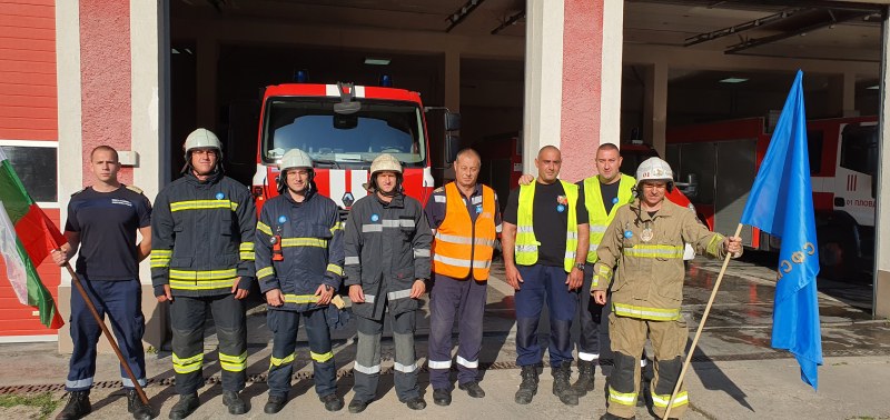
[[[537,341],[537,323],[546,299],[550,310],[550,364],[558,368],[572,362],[572,320],[577,292],[568,291],[568,276],[562,267],[517,266],[523,283],[516,290],[516,364],[538,364],[544,349]]]

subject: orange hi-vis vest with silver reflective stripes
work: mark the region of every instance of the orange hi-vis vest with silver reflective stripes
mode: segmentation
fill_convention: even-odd
[[[433,242],[433,271],[453,279],[488,279],[492,254],[497,238],[495,231],[494,190],[482,186],[482,203],[476,222],[469,218],[461,191],[454,182],[445,186],[447,206],[445,220],[436,229]]]

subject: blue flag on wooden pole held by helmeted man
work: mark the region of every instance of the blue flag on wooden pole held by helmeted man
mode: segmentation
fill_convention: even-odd
[[[748,198],[742,223],[782,239],[773,303],[772,347],[798,359],[801,379],[817,389],[822,364],[822,334],[815,276],[815,241],[803,72],[798,70],[767,156]]]

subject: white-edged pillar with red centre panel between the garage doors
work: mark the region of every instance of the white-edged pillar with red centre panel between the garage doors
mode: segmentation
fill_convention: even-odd
[[[561,178],[595,172],[601,138],[617,142],[621,117],[621,0],[531,0],[525,53],[524,171],[546,144],[563,150]]]

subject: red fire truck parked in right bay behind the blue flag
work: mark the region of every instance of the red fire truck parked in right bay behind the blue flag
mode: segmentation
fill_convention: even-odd
[[[814,120],[807,124],[807,137],[822,274],[870,271],[878,121],[873,117]],[[668,161],[714,230],[735,230],[770,138],[771,128],[763,118],[668,130]],[[750,227],[743,229],[742,238],[758,250],[777,250],[780,244],[779,239]]]

